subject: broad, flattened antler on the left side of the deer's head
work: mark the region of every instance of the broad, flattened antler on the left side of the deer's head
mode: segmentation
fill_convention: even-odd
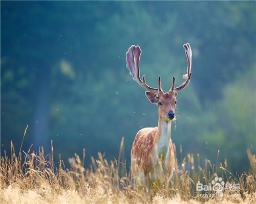
[[[126,53],[126,63],[127,63],[126,67],[129,69],[130,75],[132,75],[134,81],[136,81],[140,86],[142,86],[147,91],[158,94],[158,89],[150,87],[146,84],[145,75],[143,75],[142,81],[140,79],[140,68],[139,68],[140,55],[141,55],[140,46],[132,45]]]

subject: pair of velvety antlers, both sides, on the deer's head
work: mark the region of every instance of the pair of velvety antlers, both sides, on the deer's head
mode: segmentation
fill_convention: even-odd
[[[185,48],[185,54],[187,57],[187,73],[183,75],[183,79],[186,79],[186,81],[183,84],[181,84],[179,87],[175,88],[175,77],[173,77],[173,86],[170,90],[175,92],[179,92],[182,89],[184,89],[189,84],[189,81],[191,78],[192,51],[188,43],[184,44],[183,47]],[[153,88],[148,86],[145,81],[145,75],[142,76],[142,80],[140,79],[140,68],[139,68],[140,55],[141,55],[140,47],[132,45],[126,53],[126,62],[127,62],[126,67],[129,69],[130,75],[132,75],[134,81],[136,81],[140,86],[142,86],[147,91],[158,94],[159,92],[162,91],[160,77],[158,77],[158,88]]]

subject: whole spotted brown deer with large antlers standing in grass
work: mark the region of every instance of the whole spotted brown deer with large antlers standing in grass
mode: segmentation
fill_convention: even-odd
[[[175,170],[175,148],[171,134],[172,121],[175,119],[177,94],[182,91],[191,79],[192,51],[189,43],[183,45],[187,59],[187,73],[183,75],[185,80],[180,86],[175,87],[173,77],[172,87],[166,93],[162,90],[161,78],[158,77],[158,88],[146,84],[145,75],[140,78],[139,61],[141,55],[140,46],[132,45],[126,52],[126,67],[135,82],[143,87],[147,99],[158,106],[158,126],[145,127],[136,134],[131,149],[131,173],[136,181],[140,179],[150,190],[151,181],[163,179],[168,182]]]

